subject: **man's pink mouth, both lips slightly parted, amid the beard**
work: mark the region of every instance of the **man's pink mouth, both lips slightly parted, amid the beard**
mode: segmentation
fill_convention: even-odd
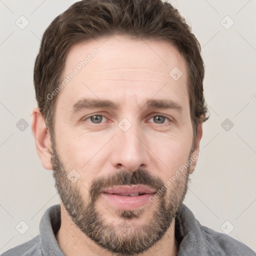
[[[144,185],[121,185],[104,189],[101,195],[105,202],[122,210],[133,210],[141,208],[150,202],[155,190]]]

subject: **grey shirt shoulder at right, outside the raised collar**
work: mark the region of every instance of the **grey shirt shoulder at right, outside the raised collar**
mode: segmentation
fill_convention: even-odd
[[[214,251],[219,250],[222,252],[221,255],[256,256],[256,253],[247,245],[227,234],[217,232],[209,227],[202,225],[201,231],[204,234],[208,250],[213,252],[212,255],[215,255]]]

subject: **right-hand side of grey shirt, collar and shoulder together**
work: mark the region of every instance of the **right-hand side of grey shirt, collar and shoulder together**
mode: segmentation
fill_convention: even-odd
[[[180,205],[177,213],[175,238],[180,243],[178,255],[256,256],[244,243],[201,225],[185,204]]]

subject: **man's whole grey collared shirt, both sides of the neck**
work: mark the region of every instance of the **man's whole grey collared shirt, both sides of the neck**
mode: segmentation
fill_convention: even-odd
[[[49,207],[39,224],[39,235],[19,244],[1,256],[64,256],[55,234],[60,227],[60,205]],[[255,256],[245,244],[202,226],[183,203],[175,218],[175,239],[179,243],[178,256]]]

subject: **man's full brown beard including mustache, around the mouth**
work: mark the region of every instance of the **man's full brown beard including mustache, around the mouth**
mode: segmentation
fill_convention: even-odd
[[[52,143],[51,154],[55,188],[72,221],[96,244],[120,255],[142,253],[159,241],[175,220],[187,191],[189,166],[164,191],[161,190],[164,187],[164,182],[160,178],[152,176],[145,169],[138,168],[133,172],[113,171],[108,176],[93,179],[88,189],[89,197],[83,199],[77,186],[78,182],[72,183],[67,178],[68,171],[60,160],[54,143]],[[150,205],[150,209],[153,208],[152,212],[145,213],[148,204],[142,209],[115,209],[114,212],[118,218],[108,223],[103,214],[95,207],[101,191],[114,185],[136,184],[143,184],[161,192],[159,197],[151,202],[155,204],[153,207]],[[168,190],[169,194],[167,194]],[[139,221],[139,218],[143,217],[143,213],[148,214],[146,221],[142,221],[142,219]]]

